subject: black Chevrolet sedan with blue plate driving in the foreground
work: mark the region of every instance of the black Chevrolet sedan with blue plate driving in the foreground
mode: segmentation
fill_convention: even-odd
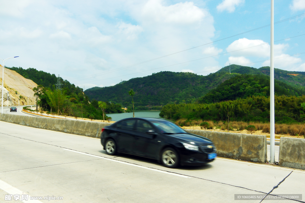
[[[102,129],[101,143],[108,155],[120,152],[152,158],[168,168],[203,165],[216,157],[211,140],[158,118],[117,121]]]

